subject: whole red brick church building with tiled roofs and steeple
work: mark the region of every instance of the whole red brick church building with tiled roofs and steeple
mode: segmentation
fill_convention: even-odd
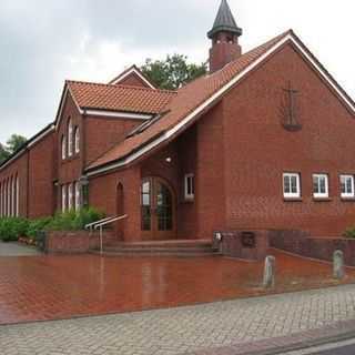
[[[135,67],[67,81],[54,122],[0,166],[0,215],[90,205],[125,242],[355,224],[355,103],[288,30],[244,52],[222,0],[209,73],[160,90]],[[348,156],[351,155],[351,156]]]

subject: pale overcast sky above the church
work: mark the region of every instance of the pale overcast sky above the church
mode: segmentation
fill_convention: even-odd
[[[293,28],[355,97],[355,2],[229,0],[243,50]],[[220,0],[0,0],[0,142],[54,120],[65,79],[108,82],[168,53],[207,59]]]

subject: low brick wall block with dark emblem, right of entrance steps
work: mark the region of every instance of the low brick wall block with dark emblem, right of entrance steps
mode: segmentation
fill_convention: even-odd
[[[243,243],[243,233],[253,233],[255,243],[252,246],[246,246]],[[268,248],[268,232],[267,231],[234,231],[220,232],[222,235],[221,252],[225,256],[245,258],[252,261],[264,260]],[[216,234],[215,234],[216,235]]]

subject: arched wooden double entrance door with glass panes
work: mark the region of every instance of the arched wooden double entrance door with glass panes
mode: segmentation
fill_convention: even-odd
[[[141,186],[142,237],[145,241],[175,237],[175,196],[159,178],[144,179]]]

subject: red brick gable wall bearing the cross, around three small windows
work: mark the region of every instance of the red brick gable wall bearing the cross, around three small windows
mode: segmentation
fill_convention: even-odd
[[[300,91],[300,132],[281,125],[288,81]],[[339,235],[354,224],[355,202],[342,201],[338,181],[355,173],[354,116],[291,45],[232,90],[223,108],[227,229]],[[282,173],[288,171],[302,174],[300,202],[284,202]],[[329,175],[331,201],[313,200],[313,173]]]

